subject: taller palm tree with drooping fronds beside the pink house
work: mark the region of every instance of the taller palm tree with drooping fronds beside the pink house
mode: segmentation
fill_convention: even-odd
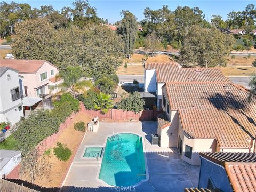
[[[76,97],[76,93],[86,93],[86,87],[91,87],[92,82],[88,80],[81,80],[84,77],[84,73],[79,66],[69,66],[66,71],[61,71],[56,75],[56,79],[63,79],[63,83],[58,84],[55,88],[60,88],[61,91],[55,93],[58,95],[60,93],[70,92],[73,97]]]

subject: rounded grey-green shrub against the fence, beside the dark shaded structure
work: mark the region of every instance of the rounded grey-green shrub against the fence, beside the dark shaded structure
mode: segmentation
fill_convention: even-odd
[[[145,105],[145,100],[140,98],[140,94],[138,92],[133,92],[129,93],[129,97],[124,98],[117,103],[117,108],[126,111],[133,111],[137,114],[144,109],[143,105]]]

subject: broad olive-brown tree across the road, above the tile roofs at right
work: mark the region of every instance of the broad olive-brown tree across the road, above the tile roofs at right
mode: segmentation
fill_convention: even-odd
[[[179,61],[184,66],[223,66],[233,44],[233,36],[223,34],[218,29],[191,26],[184,39]]]

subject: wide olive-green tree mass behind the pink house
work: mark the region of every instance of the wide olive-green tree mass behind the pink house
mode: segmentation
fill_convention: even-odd
[[[79,65],[86,76],[100,78],[115,74],[124,58],[124,43],[105,26],[54,29],[44,18],[16,25],[12,52],[17,59],[47,60],[59,69]]]

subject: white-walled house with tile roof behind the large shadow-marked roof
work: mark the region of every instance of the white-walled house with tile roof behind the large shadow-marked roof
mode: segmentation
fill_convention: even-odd
[[[145,63],[144,91],[155,92],[155,105],[161,107],[162,87],[166,82],[230,82],[218,68],[182,68],[176,62]],[[154,99],[154,98],[152,98]]]

